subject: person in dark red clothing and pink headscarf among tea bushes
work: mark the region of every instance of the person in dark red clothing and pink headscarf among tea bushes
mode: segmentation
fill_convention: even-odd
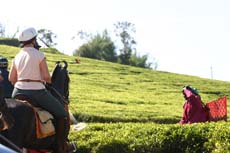
[[[208,113],[204,107],[198,91],[191,86],[185,86],[182,90],[185,98],[183,117],[180,124],[191,124],[208,121]]]

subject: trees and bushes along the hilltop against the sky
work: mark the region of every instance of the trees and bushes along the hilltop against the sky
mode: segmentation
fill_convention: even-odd
[[[16,33],[19,30],[17,29]],[[74,56],[87,57],[92,59],[110,61],[125,65],[131,65],[142,68],[157,69],[157,62],[155,59],[149,61],[148,55],[139,55],[136,50],[136,40],[133,35],[136,32],[133,23],[123,21],[114,24],[114,34],[120,45],[115,45],[111,39],[110,34],[105,29],[102,34],[92,34],[84,31],[78,32],[78,37],[84,40],[79,48],[74,50]],[[12,36],[15,37],[16,33]],[[38,39],[42,41],[46,47],[55,48],[55,38],[57,35],[51,30],[39,29]],[[5,37],[5,27],[0,23],[0,37]]]

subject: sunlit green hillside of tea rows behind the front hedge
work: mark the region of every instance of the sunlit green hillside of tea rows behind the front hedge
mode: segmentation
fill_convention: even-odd
[[[10,61],[19,48],[0,45]],[[70,109],[91,122],[177,122],[184,102],[181,89],[199,89],[204,102],[230,94],[230,83],[46,53],[50,71],[57,60],[67,60],[70,72]]]

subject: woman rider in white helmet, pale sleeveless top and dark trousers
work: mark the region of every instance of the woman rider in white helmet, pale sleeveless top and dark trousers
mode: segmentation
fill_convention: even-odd
[[[44,53],[39,51],[37,32],[28,28],[19,35],[20,52],[15,56],[10,69],[9,80],[14,85],[12,97],[24,95],[39,107],[50,112],[56,119],[57,153],[67,152],[67,112],[61,102],[50,94],[44,83],[50,84]]]

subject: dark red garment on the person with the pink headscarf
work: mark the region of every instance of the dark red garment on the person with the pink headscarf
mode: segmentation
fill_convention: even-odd
[[[183,117],[180,124],[191,124],[208,121],[208,114],[205,111],[200,96],[192,94],[187,98],[183,106]]]

